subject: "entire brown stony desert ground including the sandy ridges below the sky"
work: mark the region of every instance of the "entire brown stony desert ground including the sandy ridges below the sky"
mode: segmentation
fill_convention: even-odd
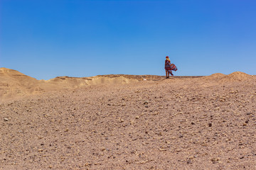
[[[0,169],[256,169],[256,77],[37,80],[0,68]]]

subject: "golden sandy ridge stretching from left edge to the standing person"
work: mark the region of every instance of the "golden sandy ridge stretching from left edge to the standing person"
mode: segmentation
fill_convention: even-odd
[[[100,75],[95,77],[56,77],[50,80],[37,80],[14,69],[0,68],[0,101],[21,98],[46,91],[78,89],[82,86],[99,84],[129,84],[143,80],[162,79],[152,75]]]

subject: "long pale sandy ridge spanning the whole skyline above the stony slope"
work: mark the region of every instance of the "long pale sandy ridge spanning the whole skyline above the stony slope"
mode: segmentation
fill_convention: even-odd
[[[78,89],[83,86],[108,86],[117,84],[134,84],[139,81],[170,81],[174,83],[176,79],[191,77],[171,77],[164,79],[164,76],[155,75],[127,75],[110,74],[95,77],[55,77],[49,80],[38,80],[29,77],[14,69],[0,68],[0,100],[20,98],[33,94],[42,94],[47,91],[60,91]],[[243,72],[233,72],[232,74],[216,73],[207,77],[196,77],[201,81],[213,81],[218,83],[228,83],[232,81],[247,81],[255,79],[255,76]],[[184,80],[185,81],[185,80]]]

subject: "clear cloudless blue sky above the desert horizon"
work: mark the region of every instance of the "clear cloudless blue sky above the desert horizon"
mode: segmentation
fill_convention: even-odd
[[[256,74],[255,0],[0,0],[0,67],[36,79]]]

